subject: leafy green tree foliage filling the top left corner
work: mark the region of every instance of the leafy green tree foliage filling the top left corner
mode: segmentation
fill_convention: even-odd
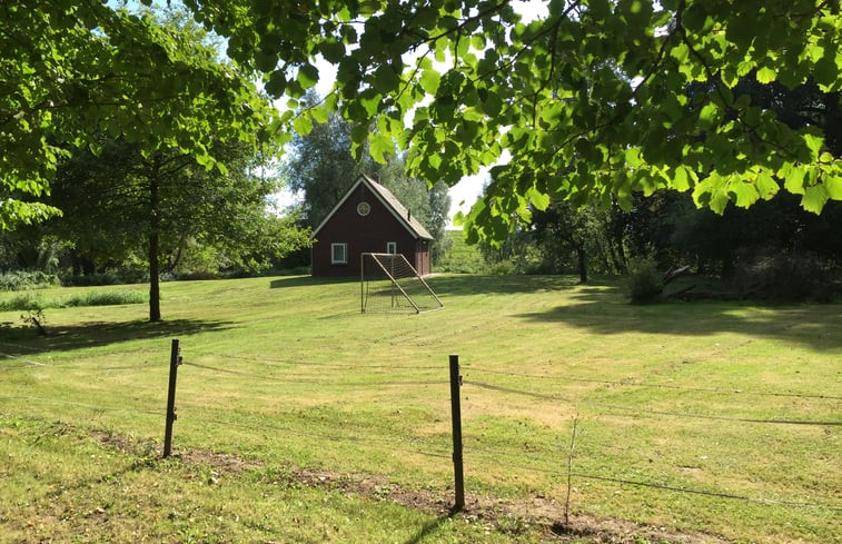
[[[208,133],[257,146],[276,115],[195,32],[105,1],[2,2],[0,49],[0,229],[59,212],[34,199],[65,144],[96,150],[105,131],[210,168]]]

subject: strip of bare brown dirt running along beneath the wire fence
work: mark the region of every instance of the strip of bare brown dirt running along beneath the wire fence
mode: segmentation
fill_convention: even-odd
[[[123,453],[149,458],[150,449],[157,457],[160,445],[138,442],[131,437],[93,431],[90,435],[101,444]],[[186,466],[202,466],[219,476],[237,476],[246,472],[259,472],[266,465],[232,454],[200,448],[179,449],[171,457]],[[341,474],[285,466],[261,479],[274,485],[295,485],[326,491],[338,491],[368,500],[388,501],[402,506],[420,510],[439,516],[459,515],[483,526],[504,533],[518,534],[538,530],[547,542],[582,540],[594,544],[731,544],[720,536],[699,532],[677,532],[667,527],[637,524],[625,520],[607,520],[587,514],[571,514],[564,523],[564,504],[548,497],[501,500],[492,496],[468,496],[465,508],[452,511],[452,489],[413,489],[390,482],[383,475]]]

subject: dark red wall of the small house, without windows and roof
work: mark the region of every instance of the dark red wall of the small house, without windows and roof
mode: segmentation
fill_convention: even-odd
[[[372,211],[365,217],[357,214],[357,205],[363,200],[372,206]],[[389,208],[365,184],[360,184],[316,235],[311,251],[313,276],[359,277],[359,255],[386,253],[387,241],[397,243],[398,253],[418,274],[429,274],[429,241],[416,240]],[[339,243],[348,245],[348,263],[331,265],[330,244]]]

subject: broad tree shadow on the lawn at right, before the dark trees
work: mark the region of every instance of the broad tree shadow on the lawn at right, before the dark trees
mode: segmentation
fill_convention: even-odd
[[[821,352],[842,347],[842,307],[838,304],[704,300],[633,305],[616,287],[577,289],[567,295],[567,300],[572,303],[517,317],[564,323],[596,335],[709,336],[734,333],[801,344]]]

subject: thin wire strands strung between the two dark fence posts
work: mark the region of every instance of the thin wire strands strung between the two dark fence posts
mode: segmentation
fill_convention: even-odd
[[[8,343],[0,343],[0,345],[8,345],[16,348],[26,347],[26,346],[16,346]],[[30,349],[30,350],[37,352],[36,349]],[[152,353],[152,352],[149,352],[149,353]],[[430,370],[445,372],[446,370],[445,365],[394,366],[394,365],[387,365],[387,364],[317,363],[317,362],[301,362],[301,360],[294,362],[294,360],[283,360],[283,359],[232,356],[232,355],[224,355],[224,354],[217,354],[217,353],[204,352],[204,350],[190,350],[190,353],[197,354],[197,355],[210,356],[210,357],[219,357],[222,359],[248,360],[248,362],[259,363],[259,364],[264,364],[268,366],[280,366],[280,365],[289,366],[289,367],[313,366],[313,367],[325,367],[325,368],[389,369],[389,370],[399,370],[399,372],[430,372]],[[47,364],[47,363],[33,360],[27,357],[21,357],[19,355],[13,355],[9,353],[0,352],[0,357],[4,357],[12,360],[20,360],[24,363],[23,365],[1,367],[0,370],[2,372],[11,372],[16,369],[36,368],[36,367],[52,367],[52,366],[65,367],[65,365]],[[236,375],[236,376],[248,377],[248,378],[252,378],[257,380],[271,380],[271,382],[279,382],[279,383],[287,383],[287,384],[307,384],[307,385],[326,384],[326,380],[324,378],[320,378],[320,379],[301,378],[301,377],[285,378],[285,377],[277,377],[277,376],[265,375],[265,374],[247,373],[247,372],[242,372],[238,369],[224,368],[220,366],[207,365],[207,364],[201,364],[201,363],[184,362],[184,364],[195,367],[195,368],[208,370],[208,372]],[[136,368],[139,369],[139,368],[152,368],[152,367],[153,366],[151,366],[149,363],[145,363],[142,365],[98,367],[98,368],[93,368],[92,370],[136,369]],[[686,386],[680,386],[680,385],[673,385],[673,384],[651,384],[651,383],[630,382],[630,380],[612,382],[612,380],[590,379],[590,378],[581,378],[581,377],[541,376],[541,375],[533,375],[533,374],[526,374],[526,373],[494,370],[494,369],[483,368],[482,366],[474,366],[474,365],[463,367],[463,372],[464,370],[472,370],[472,372],[478,372],[478,373],[485,373],[485,374],[498,375],[498,376],[523,377],[523,378],[542,379],[542,380],[551,379],[551,380],[556,380],[556,382],[596,383],[596,384],[611,385],[611,386],[616,386],[616,387],[668,388],[668,389],[677,389],[677,390],[695,390],[695,392],[715,393],[715,394],[794,397],[794,398],[804,398],[804,399],[831,399],[831,400],[842,399],[842,397],[840,396],[825,395],[825,394],[756,392],[756,390],[741,390],[741,389],[686,387]],[[412,385],[437,385],[438,386],[438,385],[447,385],[447,384],[449,384],[448,380],[440,379],[440,380],[389,380],[389,382],[377,382],[377,380],[333,382],[329,385],[331,387],[333,386],[339,386],[339,387],[347,386],[347,387],[370,388],[373,386],[374,387],[376,386],[412,386]],[[598,403],[598,402],[593,402],[593,400],[587,400],[587,399],[574,399],[569,397],[554,395],[554,394],[544,394],[544,393],[538,393],[534,390],[499,386],[499,385],[487,384],[484,382],[475,382],[475,380],[465,380],[464,385],[474,386],[474,387],[483,388],[487,390],[495,390],[499,393],[525,396],[529,398],[538,398],[542,400],[552,400],[552,402],[557,402],[557,403],[563,403],[563,404],[575,405],[575,406],[591,406],[594,408],[617,411],[617,412],[624,413],[620,415],[630,416],[630,417],[665,416],[665,417],[676,417],[676,418],[726,421],[726,422],[745,423],[745,424],[801,425],[801,426],[823,426],[823,427],[842,426],[842,421],[804,421],[804,419],[789,419],[789,418],[765,418],[764,419],[764,418],[721,416],[721,415],[714,415],[714,414],[653,411],[653,409],[645,409],[645,408],[641,408],[636,406],[622,406],[622,405],[615,405],[615,404]],[[9,399],[9,400],[24,400],[24,402],[36,402],[36,403],[43,403],[43,404],[76,406],[76,407],[87,408],[92,412],[122,412],[122,413],[132,413],[132,414],[165,416],[164,411],[151,411],[151,409],[146,409],[146,408],[137,408],[137,407],[128,407],[128,406],[92,405],[92,404],[77,403],[77,402],[71,402],[71,400],[62,400],[62,399],[57,399],[57,398],[43,398],[43,397],[26,396],[26,395],[0,396],[0,398]],[[184,406],[188,408],[207,409],[204,406],[196,406],[196,405],[189,405],[189,404],[184,405]],[[182,415],[184,415],[184,412],[182,412]],[[612,414],[612,415],[616,415],[616,414]],[[442,451],[440,444],[433,444],[425,441],[418,441],[416,438],[397,439],[397,438],[378,438],[378,437],[372,437],[372,436],[349,436],[349,435],[337,435],[337,434],[327,434],[327,433],[314,433],[314,432],[295,429],[290,427],[278,426],[278,425],[262,425],[262,424],[231,422],[231,421],[225,421],[225,419],[219,419],[215,417],[206,417],[206,416],[201,416],[200,414],[192,414],[192,413],[189,414],[188,421],[195,421],[198,423],[205,423],[205,424],[211,424],[211,425],[224,425],[224,426],[236,427],[236,428],[246,428],[246,429],[252,429],[252,431],[260,429],[260,431],[266,431],[266,432],[280,432],[280,433],[286,433],[294,436],[301,436],[301,437],[307,437],[307,438],[313,438],[313,439],[318,439],[318,441],[354,444],[354,445],[358,445],[366,448],[383,449],[384,447],[386,447],[390,452],[399,452],[404,454],[419,455],[419,456],[426,456],[426,457],[433,457],[433,458],[439,458],[439,459],[453,458],[453,453]],[[418,446],[418,448],[407,447],[407,444],[413,445],[413,446]],[[549,446],[547,444],[536,443],[536,444],[533,444],[533,446],[552,448],[563,454],[563,445],[561,444]],[[555,476],[565,477],[565,478],[573,477],[573,478],[581,478],[581,479],[614,483],[614,484],[620,484],[620,485],[631,485],[631,486],[638,486],[638,487],[646,487],[646,488],[655,488],[655,489],[662,489],[662,491],[672,492],[672,493],[683,493],[683,494],[702,495],[702,496],[710,496],[710,497],[724,498],[724,500],[735,500],[735,501],[743,501],[743,502],[763,504],[763,505],[774,505],[774,506],[795,507],[795,508],[824,508],[832,512],[842,512],[842,506],[831,505],[831,504],[820,504],[820,503],[798,502],[798,501],[779,501],[779,500],[770,500],[770,498],[762,498],[762,497],[752,497],[752,496],[720,492],[720,491],[714,491],[714,489],[693,488],[693,487],[685,487],[685,486],[680,486],[680,485],[663,484],[658,482],[630,479],[630,478],[616,477],[612,475],[591,474],[591,473],[578,472],[578,471],[555,469],[555,468],[547,468],[547,467],[529,465],[529,464],[524,464],[524,463],[509,463],[503,459],[509,456],[523,457],[524,452],[504,451],[499,448],[492,448],[492,447],[484,447],[484,446],[478,446],[478,447],[481,448],[479,451],[472,449],[469,452],[465,452],[465,457],[479,462],[481,464],[484,464],[486,466],[496,466],[501,468],[519,469],[519,471],[526,471],[526,472],[533,472],[533,473],[549,474],[549,475],[555,475]],[[544,459],[542,461],[552,463],[552,461],[544,461]]]

